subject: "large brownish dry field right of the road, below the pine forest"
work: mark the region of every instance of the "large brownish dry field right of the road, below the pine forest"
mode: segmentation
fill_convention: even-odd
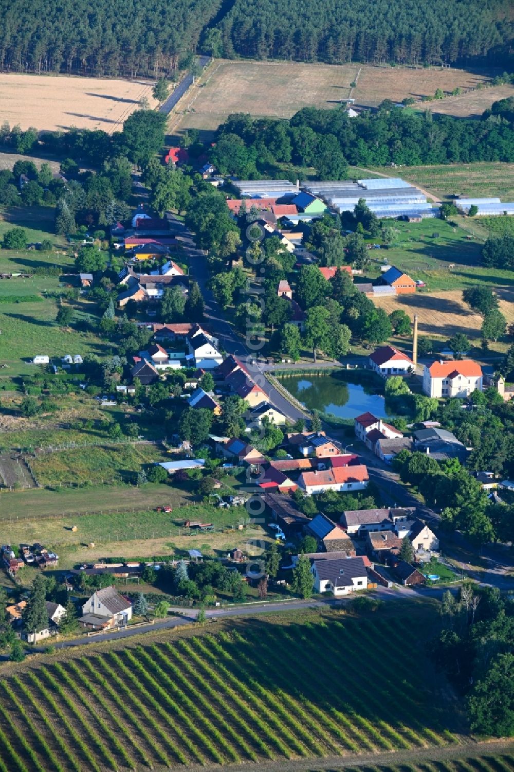
[[[357,86],[352,89],[350,83]],[[468,90],[478,83],[489,83],[489,78],[463,69],[220,60],[178,103],[170,130],[212,131],[231,113],[289,118],[306,106],[338,107],[347,97],[357,105],[376,107],[386,97],[418,99],[438,88]]]

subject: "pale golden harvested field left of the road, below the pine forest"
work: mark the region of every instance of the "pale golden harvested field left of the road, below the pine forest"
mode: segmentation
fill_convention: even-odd
[[[49,75],[0,75],[0,123],[25,130],[120,130],[123,121],[151,96],[151,83]]]

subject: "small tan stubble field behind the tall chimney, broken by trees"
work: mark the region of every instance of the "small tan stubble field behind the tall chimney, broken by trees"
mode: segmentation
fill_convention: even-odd
[[[507,322],[511,323],[514,321],[514,291],[506,287],[496,291],[500,298],[500,310],[505,314]],[[414,313],[417,313],[419,331],[426,335],[451,337],[462,332],[469,338],[480,337],[482,317],[463,302],[460,289],[379,297],[374,298],[374,303],[386,313],[401,309],[411,320],[414,319]]]

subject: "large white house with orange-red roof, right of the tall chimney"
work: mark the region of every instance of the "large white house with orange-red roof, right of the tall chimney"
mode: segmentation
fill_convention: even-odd
[[[482,367],[472,359],[439,360],[424,367],[423,391],[428,397],[468,397],[482,388]]]

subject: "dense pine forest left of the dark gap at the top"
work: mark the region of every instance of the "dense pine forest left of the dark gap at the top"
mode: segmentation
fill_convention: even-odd
[[[93,76],[171,73],[220,0],[2,0],[0,69]]]

